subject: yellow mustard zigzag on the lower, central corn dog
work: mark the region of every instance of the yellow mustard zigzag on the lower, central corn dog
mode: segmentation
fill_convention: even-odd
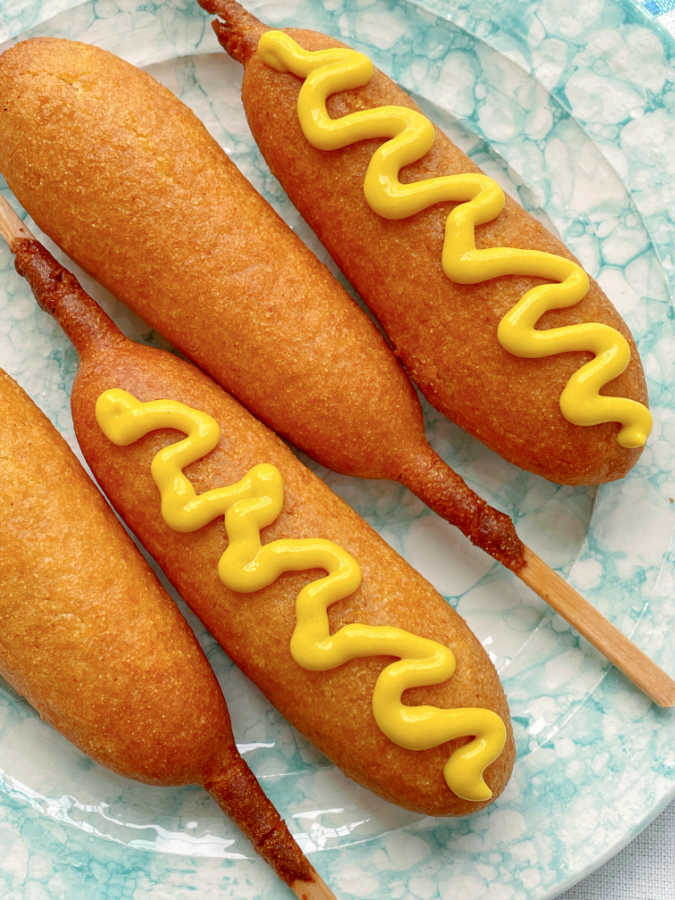
[[[305,669],[324,671],[363,656],[395,656],[398,662],[380,673],[373,692],[373,714],[394,743],[427,750],[453,738],[475,735],[451,755],[443,774],[452,791],[471,801],[492,794],[483,771],[501,753],[505,728],[492,710],[404,706],[405,690],[440,684],[452,676],[455,657],[436,641],[389,626],[344,625],[329,633],[328,607],[353,593],[361,583],[356,560],[332,541],[284,539],[264,546],[260,529],[281,512],[283,483],[279,470],[262,463],[236,484],[197,495],[183,469],[210,453],[220,428],[211,416],[174,400],[141,403],[127,391],[105,391],[96,403],[96,419],[114,444],[128,446],[162,428],[187,437],[160,450],[152,460],[162,516],[176,531],[196,531],[225,517],[228,545],[218,562],[222,582],[248,593],[272,584],[283,572],[325,569],[328,575],[306,585],[296,600],[296,627],[291,655]]]

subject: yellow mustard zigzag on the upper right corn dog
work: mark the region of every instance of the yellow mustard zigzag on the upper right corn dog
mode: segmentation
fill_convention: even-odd
[[[501,275],[531,275],[557,282],[532,288],[509,310],[499,323],[500,344],[515,356],[530,358],[573,350],[594,353],[594,359],[565,386],[561,412],[575,425],[620,422],[618,442],[623,447],[641,447],[651,430],[649,410],[635,400],[599,394],[630,361],[623,335],[597,322],[535,329],[547,310],[574,306],[585,296],[589,282],[583,269],[540,250],[476,249],[476,225],[495,219],[504,207],[502,189],[487,175],[465,173],[401,183],[401,168],[424,156],[434,140],[433,125],[420,112],[381,106],[331,119],[326,98],[361,87],[372,77],[373,64],[362,53],[346,48],[307,51],[281,31],[265,32],[258,53],[271,68],[306,79],[298,97],[298,115],[312,146],[339,150],[356,141],[391,138],[375,151],[366,172],[366,202],[376,213],[403,219],[435,203],[459,203],[448,215],[443,245],[443,270],[451,281],[476,284]]]

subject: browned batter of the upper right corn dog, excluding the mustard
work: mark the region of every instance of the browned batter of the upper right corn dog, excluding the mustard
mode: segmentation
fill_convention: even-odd
[[[330,152],[312,147],[298,122],[300,79],[274,71],[255,54],[265,26],[231,0],[203,0],[202,5],[226,19],[214,27],[225,49],[245,65],[246,115],[272,172],[378,317],[427,399],[506,459],[552,481],[599,483],[623,476],[640,450],[617,443],[619,425],[580,427],[560,412],[566,382],[592,354],[522,359],[497,341],[501,317],[541,280],[506,276],[477,285],[451,282],[441,268],[441,249],[453,204],[438,204],[400,221],[374,213],[365,202],[363,178],[382,141]],[[344,46],[316,32],[287,31],[308,50]],[[328,111],[338,118],[387,104],[418,108],[376,71],[365,87],[329,98]],[[436,129],[430,152],[407,166],[401,180],[478,171]],[[538,249],[574,259],[510,197],[495,221],[476,229],[476,244]],[[591,321],[616,328],[632,351],[629,367],[603,393],[645,403],[644,375],[630,332],[595,282],[577,306],[546,313],[537,327]]]

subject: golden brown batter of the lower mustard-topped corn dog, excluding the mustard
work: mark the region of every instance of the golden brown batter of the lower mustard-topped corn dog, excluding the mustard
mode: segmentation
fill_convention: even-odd
[[[161,447],[175,443],[177,434],[157,431],[128,447],[112,444],[94,415],[105,390],[123,388],[142,401],[179,400],[216,419],[221,427],[218,446],[187,469],[197,493],[232,484],[257,463],[279,468],[284,507],[263,530],[263,541],[322,537],[357,559],[363,584],[330,608],[331,631],[355,621],[394,625],[452,649],[457,658],[454,676],[440,685],[407,691],[404,700],[413,705],[483,706],[502,716],[506,747],[486,770],[497,796],[514,757],[508,707],[487,654],[464,621],[236,400],[189,363],[124,338],[72,276],[53,284],[46,275],[49,259],[48,254],[36,259],[27,252],[17,264],[80,351],[72,409],[85,458],[124,520],[237,665],[348,775],[387,799],[432,815],[462,815],[484,805],[456,797],[443,778],[443,766],[452,749],[466,742],[463,738],[416,752],[397,746],[379,730],[372,693],[384,658],[357,659],[327,672],[308,671],[294,662],[289,645],[295,598],[318,572],[286,573],[263,590],[237,594],[218,577],[217,562],[226,546],[222,519],[186,534],[164,522],[150,465]]]

